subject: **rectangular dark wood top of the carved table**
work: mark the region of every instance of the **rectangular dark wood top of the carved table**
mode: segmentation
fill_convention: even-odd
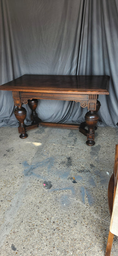
[[[109,94],[109,76],[23,75],[0,86],[4,91]]]

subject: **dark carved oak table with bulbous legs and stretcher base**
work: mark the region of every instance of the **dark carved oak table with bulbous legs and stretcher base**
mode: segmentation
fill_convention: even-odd
[[[109,76],[78,76],[78,75],[23,75],[0,86],[0,90],[12,91],[15,108],[14,114],[19,121],[18,131],[20,138],[27,138],[26,131],[39,125],[48,127],[61,127],[79,129],[87,136],[87,145],[93,146],[94,133],[98,122],[100,102],[99,94],[109,94]],[[38,117],[36,108],[37,99],[59,99],[80,102],[81,107],[88,108],[85,122],[79,124],[61,124],[42,122]],[[25,125],[27,104],[32,110],[31,125]],[[85,129],[88,127],[88,129]]]

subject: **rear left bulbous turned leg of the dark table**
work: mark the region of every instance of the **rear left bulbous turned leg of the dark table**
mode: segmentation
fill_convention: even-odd
[[[38,117],[38,114],[36,112],[36,108],[38,106],[38,99],[28,99],[28,106],[31,109],[31,120],[33,121],[32,124],[37,124],[41,122],[41,119]]]

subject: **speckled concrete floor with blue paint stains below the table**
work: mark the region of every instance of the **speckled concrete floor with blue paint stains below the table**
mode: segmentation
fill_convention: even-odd
[[[103,256],[118,129],[98,128],[92,147],[78,130],[27,133],[0,128],[0,255]]]

